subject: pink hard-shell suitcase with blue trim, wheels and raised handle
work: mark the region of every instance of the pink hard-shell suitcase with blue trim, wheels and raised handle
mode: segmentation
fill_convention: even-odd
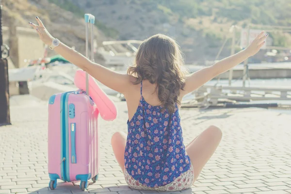
[[[86,57],[88,57],[88,24],[94,16],[85,14]],[[93,40],[93,38],[92,38]],[[93,44],[92,44],[93,47]],[[92,48],[93,50],[93,48]],[[92,59],[94,59],[92,52]],[[88,74],[86,74],[88,94]],[[81,180],[84,191],[88,179],[95,182],[99,173],[98,109],[91,97],[78,90],[56,94],[49,99],[49,188],[55,189],[57,179]]]

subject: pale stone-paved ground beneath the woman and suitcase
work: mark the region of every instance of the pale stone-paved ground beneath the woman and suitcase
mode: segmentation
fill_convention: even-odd
[[[131,190],[114,159],[111,135],[127,130],[125,102],[116,104],[118,118],[99,122],[99,180],[85,192],[79,183],[60,181],[56,190],[49,191],[47,103],[28,96],[12,98],[13,125],[0,127],[0,194],[157,193]],[[194,186],[183,193],[291,194],[291,114],[253,108],[181,109],[180,113],[186,144],[210,125],[224,133]]]

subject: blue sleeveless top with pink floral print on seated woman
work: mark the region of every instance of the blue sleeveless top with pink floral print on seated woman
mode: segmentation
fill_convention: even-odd
[[[162,106],[149,105],[141,92],[137,111],[128,121],[124,162],[132,178],[151,188],[167,185],[190,169],[177,104],[170,115]]]

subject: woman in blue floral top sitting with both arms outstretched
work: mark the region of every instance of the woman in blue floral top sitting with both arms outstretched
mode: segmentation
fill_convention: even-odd
[[[121,74],[58,44],[38,17],[36,21],[38,25],[30,25],[45,44],[104,85],[124,94],[128,135],[113,134],[113,152],[131,188],[156,191],[190,188],[222,138],[221,130],[210,126],[184,146],[179,116],[182,97],[256,54],[268,36],[261,32],[248,48],[186,74],[178,44],[166,35],[156,34],[140,45],[134,65],[127,74]]]

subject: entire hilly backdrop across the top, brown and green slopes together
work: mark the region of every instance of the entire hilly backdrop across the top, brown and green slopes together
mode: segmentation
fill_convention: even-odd
[[[214,60],[231,25],[291,25],[291,0],[4,0],[3,22],[18,26],[40,16],[55,37],[84,53],[83,14],[96,16],[98,42],[143,40],[156,33],[174,37],[186,63]],[[240,34],[238,32],[237,37]],[[271,33],[274,46],[290,46],[289,33]],[[221,56],[228,56],[226,42]],[[237,48],[238,50],[240,48]]]

